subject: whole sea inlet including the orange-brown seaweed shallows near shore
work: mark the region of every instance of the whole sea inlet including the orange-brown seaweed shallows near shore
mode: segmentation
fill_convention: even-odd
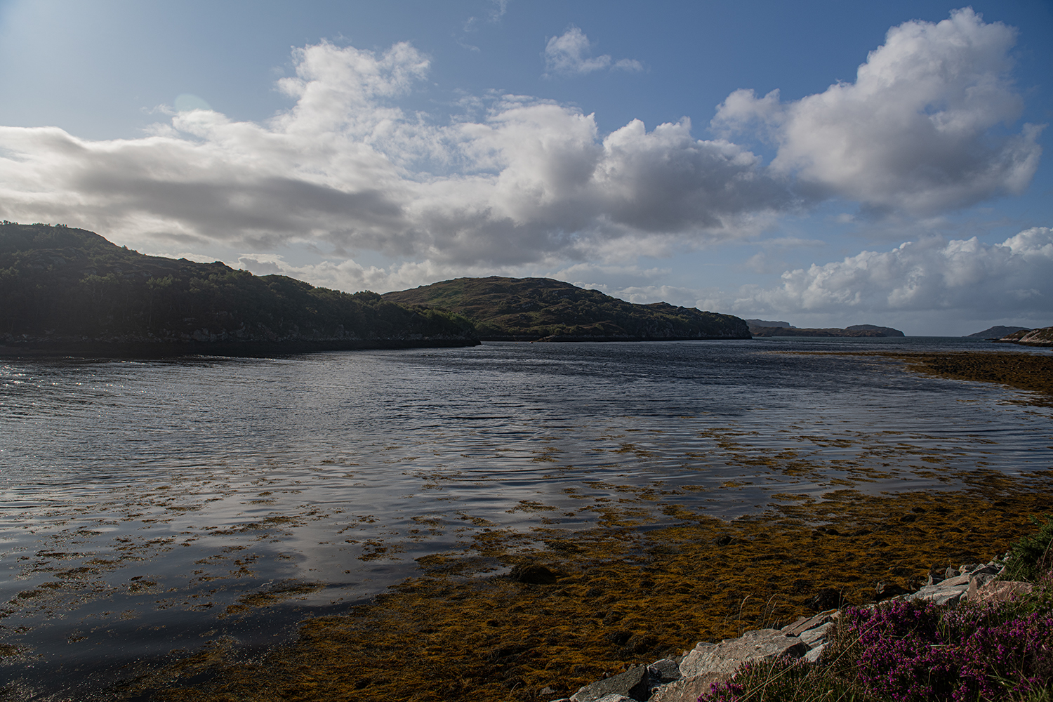
[[[5,363],[5,694],[542,699],[987,559],[1049,510],[1050,409],[899,358],[962,350],[1049,361],[908,338]],[[526,563],[556,582],[503,577]]]

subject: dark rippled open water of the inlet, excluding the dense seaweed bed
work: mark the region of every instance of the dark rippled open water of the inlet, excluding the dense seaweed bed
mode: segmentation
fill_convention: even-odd
[[[1053,465],[1050,410],[1012,392],[783,353],[934,349],[1006,350],[757,339],[5,362],[0,643],[18,653],[0,675],[16,699],[81,699],[173,649],[279,641],[478,529],[574,528],[619,500],[731,519]]]

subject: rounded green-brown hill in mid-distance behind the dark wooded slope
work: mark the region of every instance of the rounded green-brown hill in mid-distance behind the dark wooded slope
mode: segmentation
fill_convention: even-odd
[[[457,278],[386,293],[400,304],[450,309],[475,322],[480,339],[637,341],[749,339],[746,322],[731,315],[633,304],[549,278]]]

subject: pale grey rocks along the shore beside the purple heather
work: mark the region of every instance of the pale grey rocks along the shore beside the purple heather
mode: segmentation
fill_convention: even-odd
[[[953,607],[963,600],[1006,601],[1030,591],[1030,583],[995,580],[1004,568],[997,561],[949,567],[943,574],[930,573],[928,584],[916,593],[878,583],[875,599],[927,600]],[[837,603],[838,599],[836,590],[823,591],[816,604]],[[553,702],[695,702],[711,685],[734,678],[739,666],[750,661],[788,656],[821,665],[820,656],[839,616],[840,609],[834,607],[781,628],[754,629],[718,643],[700,641],[682,656],[635,665]]]

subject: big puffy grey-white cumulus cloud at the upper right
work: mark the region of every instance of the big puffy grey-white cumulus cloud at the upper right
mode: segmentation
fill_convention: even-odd
[[[772,168],[796,174],[815,197],[925,216],[1019,194],[1038,165],[1040,127],[994,129],[1022,108],[1009,76],[1015,37],[968,7],[938,23],[905,22],[854,83],[787,103],[778,91],[736,91],[713,126],[767,129],[778,146]]]

